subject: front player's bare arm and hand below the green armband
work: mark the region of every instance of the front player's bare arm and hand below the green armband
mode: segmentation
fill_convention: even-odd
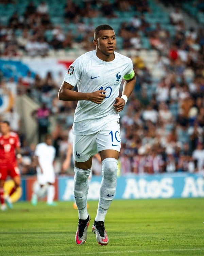
[[[136,78],[135,75],[132,79],[130,80],[125,80],[124,84],[123,84],[123,91],[122,91],[122,95],[126,95],[127,98],[130,97],[134,87],[135,87],[135,83],[136,83]],[[125,106],[125,100],[123,98],[116,98],[115,104],[113,104],[115,110],[117,112],[120,112],[123,110],[124,106]]]

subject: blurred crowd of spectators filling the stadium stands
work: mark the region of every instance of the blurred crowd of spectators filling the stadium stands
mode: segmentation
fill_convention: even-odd
[[[15,4],[15,1],[12,2]],[[167,1],[163,2],[166,4]],[[72,35],[71,32],[65,33],[60,25],[52,24],[48,3],[42,1],[35,6],[31,1],[22,16],[14,13],[7,26],[0,25],[1,56],[16,56],[20,49],[30,56],[45,57],[50,48],[71,48],[75,44],[89,51],[94,49],[91,43],[94,26],[86,25],[81,17],[102,15],[117,19],[118,10],[125,12],[134,9],[140,12],[140,16],[135,15],[130,17],[129,22],[122,23],[116,34],[123,39],[122,49],[135,51],[129,57],[133,60],[137,77],[135,90],[120,113],[120,174],[203,172],[203,27],[198,24],[186,28],[181,5],[169,13],[169,24],[175,30],[171,34],[162,24],[156,23],[153,27],[146,21],[145,14],[151,13],[148,1],[115,0],[109,3],[96,0],[84,1],[83,4],[80,7],[68,0],[64,6],[64,22],[73,23],[78,28],[77,33]],[[49,42],[45,38],[48,29],[52,30],[53,35]],[[18,37],[16,30],[22,31]],[[149,49],[142,48],[142,35],[148,38]],[[156,53],[152,70],[148,68],[147,60],[139,54],[140,51]],[[49,117],[55,116],[57,125],[51,132],[57,152],[58,173],[62,173],[67,136],[77,104],[58,100],[57,93],[64,75],[59,72],[58,77],[53,78],[52,73],[48,72],[46,78],[41,78],[28,72],[18,81],[0,75],[2,93],[25,94],[41,102],[40,108],[31,113],[38,125],[41,122],[41,126],[44,126],[38,126],[39,141],[49,131]],[[19,131],[20,118],[15,108],[0,114],[2,119],[10,120],[14,131]],[[20,134],[20,138],[24,155],[21,173],[34,174],[32,156],[35,145],[28,145],[23,134]],[[94,174],[100,175],[100,163],[96,161],[94,165],[97,170]],[[73,165],[71,171],[65,173],[73,174]]]

